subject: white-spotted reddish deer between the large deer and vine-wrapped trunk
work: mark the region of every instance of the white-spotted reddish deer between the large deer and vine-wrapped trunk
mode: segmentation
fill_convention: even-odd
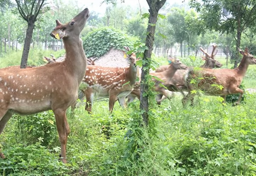
[[[125,46],[125,50],[130,49]],[[126,68],[120,67],[104,67],[104,66],[87,66],[86,76],[83,82],[86,88],[83,92],[86,96],[85,109],[92,111],[93,97],[109,97],[109,111],[113,111],[116,99],[122,106],[125,106],[125,96],[131,93],[138,76],[138,67],[135,65],[135,53],[128,55],[130,66]]]

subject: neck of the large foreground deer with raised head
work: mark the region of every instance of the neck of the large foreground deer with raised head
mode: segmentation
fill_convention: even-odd
[[[76,76],[78,83],[80,83],[85,75],[87,63],[83,50],[83,42],[80,37],[69,37],[68,39],[63,39],[63,42],[66,50],[66,59],[64,61],[66,63],[66,69],[72,75]]]

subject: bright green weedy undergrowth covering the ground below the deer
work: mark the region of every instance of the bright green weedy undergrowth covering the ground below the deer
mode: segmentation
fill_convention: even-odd
[[[196,96],[194,107],[176,95],[150,110],[152,128],[141,127],[138,100],[108,113],[107,101],[93,114],[68,110],[71,129],[68,164],[51,111],[13,116],[0,136],[7,159],[2,176],[254,176],[256,174],[255,94],[240,106],[214,96]],[[153,119],[152,119],[153,118]],[[154,135],[153,135],[154,134]],[[136,145],[135,145],[136,144]],[[137,145],[138,144],[138,145]]]

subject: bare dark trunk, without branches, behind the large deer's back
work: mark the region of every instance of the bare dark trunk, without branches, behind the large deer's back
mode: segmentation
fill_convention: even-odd
[[[21,68],[26,68],[28,63],[28,53],[30,49],[30,43],[33,35],[33,30],[35,28],[35,22],[32,19],[28,20],[28,28],[26,32],[26,37],[24,40],[24,47],[21,57]]]

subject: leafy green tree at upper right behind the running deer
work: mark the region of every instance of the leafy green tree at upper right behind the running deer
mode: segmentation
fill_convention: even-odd
[[[255,24],[256,0],[190,0],[208,29],[232,33],[236,41],[235,63],[239,61],[242,32]]]

